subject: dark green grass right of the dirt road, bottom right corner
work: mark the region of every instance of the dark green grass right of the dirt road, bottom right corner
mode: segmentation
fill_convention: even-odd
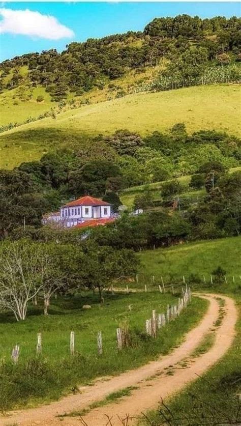
[[[240,295],[235,299],[240,307]],[[215,366],[166,401],[167,408],[161,406],[158,411],[147,413],[148,421],[142,419],[139,424],[240,424],[240,317],[236,330],[232,347]]]

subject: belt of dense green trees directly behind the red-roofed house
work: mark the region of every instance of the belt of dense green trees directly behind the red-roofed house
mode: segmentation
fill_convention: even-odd
[[[1,237],[26,225],[38,228],[44,213],[86,194],[105,197],[117,211],[121,202],[116,193],[143,183],[169,179],[162,184],[159,198],[163,206],[173,207],[183,192],[178,177],[193,175],[191,187],[205,185],[210,194],[219,185],[220,175],[237,166],[240,158],[237,137],[204,130],[189,135],[183,123],[169,133],[156,131],[144,138],[119,130],[108,137],[86,139],[81,147],[76,141],[72,150],[49,152],[39,161],[0,171]],[[183,209],[188,207],[185,203]],[[134,207],[152,206],[147,188],[135,199]]]

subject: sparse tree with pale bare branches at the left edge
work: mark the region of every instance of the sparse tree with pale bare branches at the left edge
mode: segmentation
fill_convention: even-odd
[[[0,307],[25,320],[27,305],[44,287],[50,259],[41,244],[5,244],[0,254]]]

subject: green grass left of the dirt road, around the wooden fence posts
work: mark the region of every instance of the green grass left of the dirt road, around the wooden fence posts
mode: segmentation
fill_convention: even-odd
[[[31,307],[24,322],[16,323],[11,315],[0,320],[0,409],[36,406],[56,400],[78,385],[91,384],[96,377],[118,374],[136,368],[160,353],[167,354],[182,342],[206,310],[205,300],[194,298],[176,321],[170,322],[157,339],[144,333],[145,320],[163,311],[176,300],[172,295],[147,294],[106,295],[100,305],[97,296],[66,297],[53,300],[49,317],[42,315],[42,306]],[[92,309],[83,310],[83,304]],[[132,305],[130,311],[129,305]],[[116,328],[129,323],[134,346],[117,351]],[[70,331],[75,331],[75,351],[69,354]],[[103,354],[97,354],[97,332],[102,331]],[[36,357],[37,333],[42,332],[42,355]],[[20,345],[17,365],[10,361],[14,345]]]

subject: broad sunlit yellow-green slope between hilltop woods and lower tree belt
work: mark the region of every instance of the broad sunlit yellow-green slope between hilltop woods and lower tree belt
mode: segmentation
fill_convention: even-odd
[[[67,139],[69,134],[110,133],[128,128],[145,135],[167,130],[178,122],[185,122],[189,132],[217,129],[240,134],[239,101],[238,86],[220,85],[128,95],[86,105],[63,112],[56,120],[46,118],[3,133],[0,167],[11,168],[37,159],[44,149],[61,145],[63,135]]]

